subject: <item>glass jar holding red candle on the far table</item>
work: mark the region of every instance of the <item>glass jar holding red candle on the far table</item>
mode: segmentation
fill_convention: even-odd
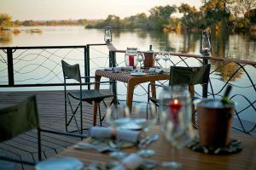
[[[137,66],[137,48],[127,48],[125,52],[125,65],[132,66],[134,69]]]

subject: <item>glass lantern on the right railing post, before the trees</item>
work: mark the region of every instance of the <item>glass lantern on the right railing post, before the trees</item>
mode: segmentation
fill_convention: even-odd
[[[200,52],[203,57],[211,57],[212,45],[211,45],[211,31],[201,32],[201,48]]]

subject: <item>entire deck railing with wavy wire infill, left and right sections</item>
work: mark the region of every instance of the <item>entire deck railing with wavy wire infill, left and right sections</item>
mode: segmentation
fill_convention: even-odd
[[[103,50],[102,48],[96,49],[102,46]],[[69,63],[79,63],[81,67],[84,67],[82,74],[93,76],[98,68],[124,65],[125,53],[125,50],[117,50],[111,43],[81,46],[2,47],[0,49],[2,49],[0,91],[3,91],[3,88],[62,86],[61,59],[67,59]],[[211,63],[207,97],[221,98],[224,88],[228,84],[233,86],[230,99],[237,103],[234,128],[247,134],[255,133],[256,62],[218,57],[202,58],[195,54],[170,54],[172,57],[168,60],[168,67]],[[164,61],[160,60],[159,65],[164,64]],[[85,80],[85,82],[89,81],[89,79]],[[140,87],[139,94],[135,94],[138,97],[147,94],[147,88],[143,85]],[[195,90],[198,96],[202,95],[200,86],[195,87]],[[247,120],[246,123],[244,120]]]

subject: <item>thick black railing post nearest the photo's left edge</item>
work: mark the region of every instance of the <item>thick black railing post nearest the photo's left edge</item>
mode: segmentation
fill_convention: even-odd
[[[15,77],[14,77],[14,61],[13,61],[13,49],[7,48],[7,63],[8,63],[8,79],[9,86],[15,85]]]

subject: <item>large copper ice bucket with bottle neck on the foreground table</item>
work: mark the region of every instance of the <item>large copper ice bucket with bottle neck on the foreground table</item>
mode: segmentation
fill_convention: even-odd
[[[228,100],[230,87],[223,99],[204,99],[197,105],[200,143],[213,148],[224,147],[230,142],[234,104]]]

